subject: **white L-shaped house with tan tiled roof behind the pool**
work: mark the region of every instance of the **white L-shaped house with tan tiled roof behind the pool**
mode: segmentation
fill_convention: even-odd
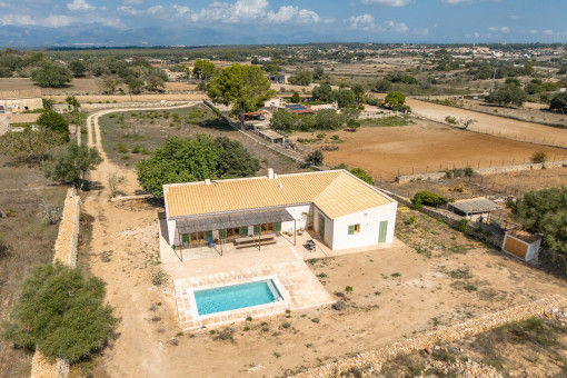
[[[163,186],[169,245],[312,228],[332,250],[394,240],[397,202],[346,170]]]

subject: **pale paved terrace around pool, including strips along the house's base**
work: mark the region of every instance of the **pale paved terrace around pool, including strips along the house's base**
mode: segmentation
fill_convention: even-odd
[[[391,243],[332,251],[318,238],[316,232],[278,236],[276,243],[236,249],[232,243],[173,250],[162,236],[160,227],[160,257],[162,269],[171,277],[179,322],[183,330],[202,327],[218,327],[246,320],[248,317],[269,317],[286,310],[301,310],[335,302],[319,282],[305,260],[335,257],[377,249],[404,246],[399,240]],[[317,248],[309,251],[307,240],[314,240]],[[295,241],[295,245],[294,245]],[[182,261],[180,259],[182,253]],[[222,256],[221,256],[222,255]],[[199,316],[193,290],[249,282],[272,278],[284,300],[251,308]]]

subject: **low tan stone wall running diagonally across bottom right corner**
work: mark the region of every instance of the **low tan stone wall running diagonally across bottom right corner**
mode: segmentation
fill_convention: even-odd
[[[341,375],[348,375],[352,369],[360,369],[365,376],[371,376],[372,372],[380,370],[382,364],[395,359],[397,356],[410,355],[426,348],[431,348],[436,344],[449,344],[469,338],[514,321],[521,321],[533,317],[554,316],[554,310],[564,307],[566,304],[567,300],[564,297],[555,295],[526,305],[493,312],[452,327],[404,339],[376,350],[361,352],[356,357],[300,372],[294,377],[340,377]],[[478,377],[481,376],[479,375]]]

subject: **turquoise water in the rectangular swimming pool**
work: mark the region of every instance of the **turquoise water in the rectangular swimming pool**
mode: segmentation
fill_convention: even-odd
[[[271,304],[280,298],[271,279],[195,291],[199,315]]]

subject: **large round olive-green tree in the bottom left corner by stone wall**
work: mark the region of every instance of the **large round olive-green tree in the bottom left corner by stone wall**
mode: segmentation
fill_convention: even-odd
[[[60,262],[39,266],[23,279],[2,337],[17,347],[37,347],[47,357],[79,362],[101,350],[118,325],[105,295],[100,278],[87,279]]]

